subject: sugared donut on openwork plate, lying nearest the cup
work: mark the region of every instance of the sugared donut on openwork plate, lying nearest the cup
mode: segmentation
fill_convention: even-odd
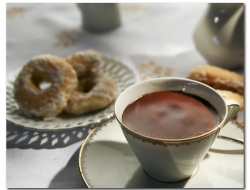
[[[90,72],[79,79],[65,112],[79,115],[103,109],[117,97],[117,93],[117,85],[111,77]]]

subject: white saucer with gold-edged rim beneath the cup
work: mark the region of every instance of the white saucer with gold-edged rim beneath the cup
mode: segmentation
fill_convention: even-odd
[[[231,122],[220,134],[244,139],[242,128]],[[243,188],[244,146],[216,139],[193,177],[163,183],[144,172],[118,122],[111,118],[82,144],[79,169],[89,188]]]

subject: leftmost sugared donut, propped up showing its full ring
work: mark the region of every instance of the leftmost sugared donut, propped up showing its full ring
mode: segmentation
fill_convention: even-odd
[[[40,55],[20,71],[14,83],[14,97],[26,115],[53,117],[65,108],[76,87],[76,72],[69,63],[56,56]]]

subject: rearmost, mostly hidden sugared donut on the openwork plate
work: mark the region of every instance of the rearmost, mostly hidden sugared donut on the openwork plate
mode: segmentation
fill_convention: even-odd
[[[73,66],[78,77],[84,76],[101,64],[101,56],[94,50],[78,51],[65,59]]]

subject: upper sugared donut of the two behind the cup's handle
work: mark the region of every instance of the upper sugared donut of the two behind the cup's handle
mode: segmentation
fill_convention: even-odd
[[[203,82],[215,89],[244,93],[244,79],[239,74],[210,65],[201,65],[191,69],[189,79]]]

